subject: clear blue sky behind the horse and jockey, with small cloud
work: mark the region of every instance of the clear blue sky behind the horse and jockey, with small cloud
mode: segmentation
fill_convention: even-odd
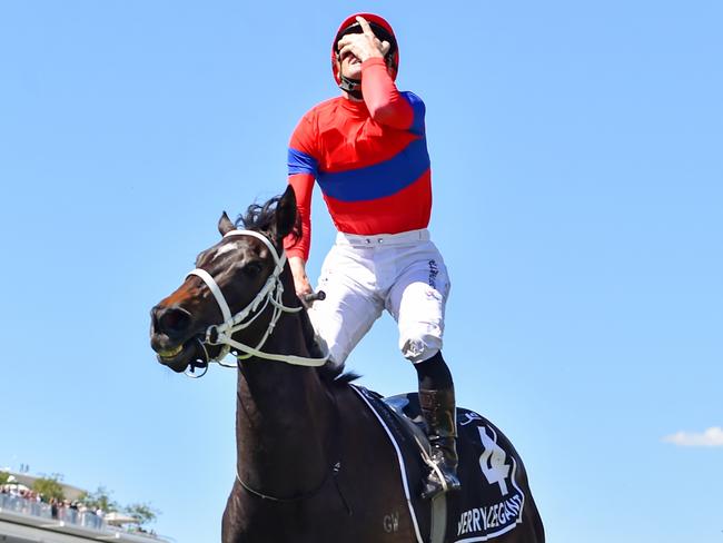
[[[548,540],[723,541],[720,2],[0,4],[0,466],[218,541],[235,374],[158,365],[148,312],[286,184],[359,10],[426,102],[460,405],[513,440]],[[309,270],[334,237],[318,191]],[[348,361],[414,371],[380,319]]]

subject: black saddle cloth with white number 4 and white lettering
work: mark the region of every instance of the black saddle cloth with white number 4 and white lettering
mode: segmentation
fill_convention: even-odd
[[[383,398],[364,387],[353,387],[374,412],[397,452],[415,524],[427,524],[422,515],[429,514],[429,501],[418,496],[429,443],[417,394]],[[418,531],[419,543],[491,541],[521,525],[523,515],[532,512],[526,509],[537,514],[532,496],[526,494],[525,468],[507,437],[485,417],[464,408],[457,408],[457,433],[462,490],[433,501],[430,527],[424,530],[424,537]]]

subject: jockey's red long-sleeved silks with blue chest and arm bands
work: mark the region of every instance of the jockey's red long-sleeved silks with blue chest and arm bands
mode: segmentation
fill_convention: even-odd
[[[313,108],[288,150],[303,237],[288,256],[308,259],[311,194],[318,182],[339,231],[374,235],[426,228],[432,210],[425,106],[397,90],[382,58],[361,65],[364,101],[338,97]]]

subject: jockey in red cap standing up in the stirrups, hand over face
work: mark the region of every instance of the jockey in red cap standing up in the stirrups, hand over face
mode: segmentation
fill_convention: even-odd
[[[338,234],[319,278],[326,299],[314,303],[311,323],[331,364],[341,366],[384,309],[395,318],[402,354],[418,374],[438,467],[423,492],[432,497],[459,488],[454,385],[440,351],[449,278],[427,230],[425,106],[418,96],[397,90],[398,62],[394,31],[382,17],[359,13],[339,27],[331,69],[341,96],[308,111],[289,144],[289,182],[303,236],[287,238],[285,248],[304,298],[313,293],[306,260],[316,181]]]

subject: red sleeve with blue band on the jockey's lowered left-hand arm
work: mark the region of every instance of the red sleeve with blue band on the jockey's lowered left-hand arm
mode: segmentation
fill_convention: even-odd
[[[301,118],[291,135],[288,150],[289,185],[296,195],[296,209],[301,223],[301,238],[287,236],[284,239],[286,254],[309,258],[311,247],[311,194],[316,181],[318,161],[316,156],[316,131],[310,116]]]

